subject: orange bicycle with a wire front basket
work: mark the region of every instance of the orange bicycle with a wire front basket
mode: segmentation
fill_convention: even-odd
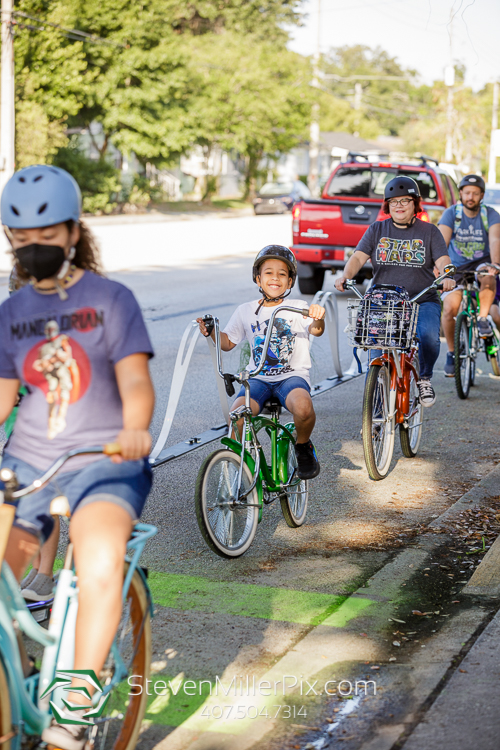
[[[374,350],[365,381],[362,428],[363,451],[371,479],[384,479],[389,472],[396,427],[399,426],[403,455],[414,458],[417,454],[423,424],[417,387],[420,380],[417,300],[454,271],[453,266],[446,266],[442,276],[411,300],[397,292],[385,293],[395,288],[384,285],[377,286],[378,293],[367,292],[363,297],[355,282],[345,282],[345,288],[352,289],[360,300],[347,303],[349,339],[355,348]]]

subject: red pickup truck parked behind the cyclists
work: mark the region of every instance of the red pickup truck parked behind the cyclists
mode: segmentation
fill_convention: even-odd
[[[315,294],[322,286],[325,271],[343,268],[370,224],[386,219],[382,212],[384,188],[396,175],[413,177],[418,183],[424,221],[437,224],[442,212],[459,200],[453,179],[430,157],[408,163],[367,162],[361,154],[332,172],[320,199],[301,200],[293,208],[293,245],[298,261],[299,289]],[[367,264],[358,283],[371,276]]]

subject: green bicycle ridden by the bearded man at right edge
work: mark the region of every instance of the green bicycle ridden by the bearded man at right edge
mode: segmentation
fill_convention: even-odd
[[[490,265],[490,264],[489,264]],[[469,396],[476,377],[476,360],[481,351],[491,363],[493,374],[500,375],[500,335],[492,325],[493,333],[487,339],[479,337],[477,311],[479,309],[478,276],[487,272],[463,272],[462,311],[455,323],[455,387],[461,399]]]

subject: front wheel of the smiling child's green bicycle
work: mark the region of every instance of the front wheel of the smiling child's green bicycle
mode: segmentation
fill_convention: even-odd
[[[203,539],[221,557],[239,557],[253,542],[259,522],[254,488],[246,501],[234,505],[240,457],[218,450],[202,464],[196,480],[196,518]],[[243,464],[242,489],[250,487],[252,472]],[[248,505],[247,503],[251,504]]]

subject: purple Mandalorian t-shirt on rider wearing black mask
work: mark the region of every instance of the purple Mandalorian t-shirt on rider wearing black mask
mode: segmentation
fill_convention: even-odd
[[[123,416],[114,366],[153,355],[127,287],[86,271],[67,292],[63,301],[26,286],[0,305],[0,377],[28,390],[6,450],[40,469],[73,448],[116,440]],[[72,459],[63,471],[100,458]]]

